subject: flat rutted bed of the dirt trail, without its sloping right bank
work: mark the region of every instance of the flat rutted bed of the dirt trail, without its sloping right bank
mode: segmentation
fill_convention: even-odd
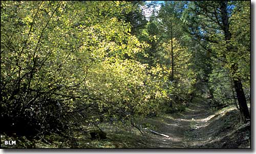
[[[185,112],[178,117],[172,115],[162,120],[159,133],[170,136],[152,136],[148,140],[152,148],[190,148],[193,142],[188,142],[188,134],[194,129],[200,129],[209,120],[209,107],[207,103],[191,103]]]

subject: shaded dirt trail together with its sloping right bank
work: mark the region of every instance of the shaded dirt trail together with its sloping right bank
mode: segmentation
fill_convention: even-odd
[[[249,125],[241,126],[234,107],[214,112],[207,102],[193,102],[183,113],[148,120],[159,133],[170,136],[151,135],[151,148],[248,148],[250,143]]]

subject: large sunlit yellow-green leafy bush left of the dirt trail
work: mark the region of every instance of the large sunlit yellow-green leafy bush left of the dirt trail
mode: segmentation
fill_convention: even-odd
[[[88,123],[99,114],[130,119],[160,113],[168,99],[166,77],[159,66],[135,60],[148,44],[122,19],[131,3],[2,6],[2,130],[43,138],[70,134],[70,123],[77,123],[72,115]]]

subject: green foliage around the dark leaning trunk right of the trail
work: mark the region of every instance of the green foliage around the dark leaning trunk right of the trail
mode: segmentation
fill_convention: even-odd
[[[243,82],[241,89],[245,96],[250,98],[249,4],[227,1],[224,3],[226,8],[223,8],[221,2],[195,2],[189,3],[183,13],[187,31],[197,38],[208,55],[205,60],[208,69],[202,71],[208,82],[207,93],[216,104],[236,102],[232,82],[238,79]],[[223,23],[225,9],[228,16],[226,25]]]

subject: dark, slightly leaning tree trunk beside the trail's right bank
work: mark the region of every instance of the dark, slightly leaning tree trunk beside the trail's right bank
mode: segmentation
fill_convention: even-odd
[[[221,18],[222,18],[222,24],[223,24],[222,29],[225,34],[226,43],[229,43],[229,41],[231,39],[231,33],[229,31],[227,1],[221,1],[220,7],[221,7],[220,8],[221,9]],[[227,51],[230,52],[232,49],[234,49],[234,47],[232,45],[228,45]],[[238,104],[239,104],[240,110],[246,120],[246,119],[250,119],[250,114],[249,114],[248,106],[246,103],[246,98],[245,98],[245,94],[243,91],[243,85],[242,85],[240,76],[236,75],[237,71],[238,71],[238,63],[233,63],[231,65],[230,74],[232,75],[232,80],[234,82],[234,89],[236,90],[236,93],[237,93]]]

